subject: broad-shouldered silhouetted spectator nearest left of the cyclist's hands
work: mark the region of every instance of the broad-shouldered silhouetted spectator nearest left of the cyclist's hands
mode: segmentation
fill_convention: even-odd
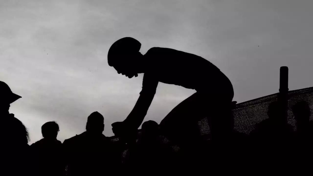
[[[87,119],[85,132],[64,140],[68,175],[103,175],[114,170],[119,158],[103,130],[103,116],[93,112]]]

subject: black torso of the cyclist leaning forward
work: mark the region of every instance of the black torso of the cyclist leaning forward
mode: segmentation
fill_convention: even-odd
[[[145,57],[145,75],[151,75],[158,82],[189,89],[202,88],[209,82],[209,76],[221,73],[208,60],[174,49],[153,47]]]

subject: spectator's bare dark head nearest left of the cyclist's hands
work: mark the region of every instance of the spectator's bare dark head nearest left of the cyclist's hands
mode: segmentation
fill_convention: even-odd
[[[93,112],[87,119],[86,131],[102,134],[104,130],[104,118],[99,112]]]

